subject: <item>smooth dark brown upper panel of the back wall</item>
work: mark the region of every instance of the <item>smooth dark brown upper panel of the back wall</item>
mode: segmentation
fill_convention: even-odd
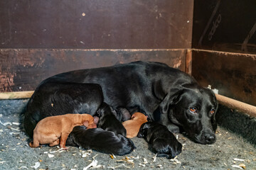
[[[9,0],[0,16],[0,48],[190,48],[193,0]]]

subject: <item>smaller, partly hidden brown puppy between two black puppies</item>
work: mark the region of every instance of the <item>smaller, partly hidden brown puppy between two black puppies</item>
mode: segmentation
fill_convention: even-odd
[[[146,115],[137,112],[132,115],[131,120],[127,120],[122,123],[124,125],[124,128],[127,130],[128,138],[137,136],[139,128],[142,126],[143,123],[147,122],[146,118]]]

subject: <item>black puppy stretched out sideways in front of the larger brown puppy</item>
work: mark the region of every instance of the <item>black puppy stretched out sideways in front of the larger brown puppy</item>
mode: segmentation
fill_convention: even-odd
[[[70,134],[70,139],[79,147],[95,149],[106,154],[124,155],[136,149],[132,140],[101,128],[86,130],[85,126],[77,126]]]

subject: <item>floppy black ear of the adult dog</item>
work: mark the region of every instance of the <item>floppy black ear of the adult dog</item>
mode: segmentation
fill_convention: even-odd
[[[183,93],[183,88],[172,89],[164,97],[164,100],[159,104],[159,109],[162,114],[166,114],[169,106],[178,102],[178,97]]]

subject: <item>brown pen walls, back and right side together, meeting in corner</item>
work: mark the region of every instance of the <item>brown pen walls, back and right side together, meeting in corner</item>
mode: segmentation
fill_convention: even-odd
[[[250,104],[253,116],[255,6],[252,0],[0,1],[0,96],[29,97],[61,72],[144,60],[192,74]]]

